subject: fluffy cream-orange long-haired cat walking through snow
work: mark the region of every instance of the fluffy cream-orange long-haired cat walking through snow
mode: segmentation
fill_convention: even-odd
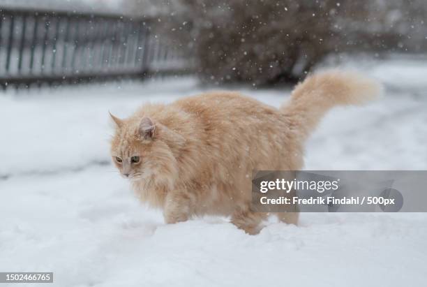
[[[127,119],[110,114],[112,161],[140,200],[163,209],[166,223],[220,214],[256,234],[267,213],[250,209],[253,170],[301,170],[304,142],[322,116],[381,90],[356,73],[326,71],[299,83],[278,109],[232,91],[143,105]],[[297,212],[276,215],[299,219]]]

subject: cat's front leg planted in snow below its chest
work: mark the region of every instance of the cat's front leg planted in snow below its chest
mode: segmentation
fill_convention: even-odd
[[[163,216],[166,223],[187,221],[190,214],[190,199],[186,193],[182,191],[170,191],[167,193],[163,209]]]

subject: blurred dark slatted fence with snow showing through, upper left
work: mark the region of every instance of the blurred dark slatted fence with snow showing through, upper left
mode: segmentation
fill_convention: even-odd
[[[123,15],[0,8],[0,86],[188,71],[179,50],[151,35],[153,24]]]

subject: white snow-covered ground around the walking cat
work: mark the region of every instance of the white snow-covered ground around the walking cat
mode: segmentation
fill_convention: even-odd
[[[346,66],[387,93],[332,111],[306,169],[426,170],[427,61]],[[427,214],[302,214],[250,236],[218,217],[167,226],[140,205],[110,164],[108,110],[206,89],[179,78],[0,94],[0,271],[54,272],[60,287],[425,286]],[[241,91],[274,106],[290,93]]]

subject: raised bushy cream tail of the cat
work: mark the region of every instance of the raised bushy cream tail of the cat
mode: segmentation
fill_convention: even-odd
[[[361,105],[381,94],[381,84],[358,73],[325,71],[299,83],[280,110],[290,119],[291,128],[306,137],[334,106]]]

